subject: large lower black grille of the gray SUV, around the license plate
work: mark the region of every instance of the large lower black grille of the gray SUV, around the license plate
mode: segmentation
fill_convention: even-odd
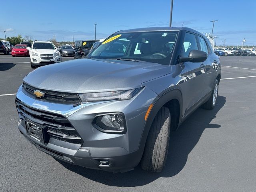
[[[82,138],[64,116],[36,110],[22,104],[18,99],[16,99],[16,107],[20,119],[46,127],[46,134],[48,134],[50,138],[82,145]]]

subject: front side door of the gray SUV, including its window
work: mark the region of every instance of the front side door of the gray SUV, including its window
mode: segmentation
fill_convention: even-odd
[[[180,57],[188,57],[191,50],[200,50],[196,35],[185,32],[182,43]],[[201,104],[202,92],[204,89],[204,63],[203,62],[184,62],[180,63],[182,73],[180,76],[184,78],[184,83],[180,84],[184,95],[182,114],[186,116],[197,106]]]

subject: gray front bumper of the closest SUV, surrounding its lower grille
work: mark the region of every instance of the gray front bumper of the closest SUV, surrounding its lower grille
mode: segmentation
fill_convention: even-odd
[[[56,140],[42,144],[29,136],[22,119],[18,121],[18,129],[38,149],[60,160],[87,168],[124,172],[132,170],[140,162],[144,150],[144,146],[140,146],[144,116],[156,97],[154,92],[144,88],[131,100],[95,102],[74,107],[31,98],[20,87],[17,100],[35,110],[64,116],[81,136],[83,143],[78,148],[67,147]],[[96,115],[108,112],[122,112],[125,115],[126,134],[104,133],[92,125]]]

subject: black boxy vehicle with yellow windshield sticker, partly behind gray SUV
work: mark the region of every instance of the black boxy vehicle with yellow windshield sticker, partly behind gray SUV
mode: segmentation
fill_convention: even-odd
[[[74,59],[84,58],[89,53],[92,45],[97,42],[96,40],[82,41],[78,40],[75,42],[75,53]]]

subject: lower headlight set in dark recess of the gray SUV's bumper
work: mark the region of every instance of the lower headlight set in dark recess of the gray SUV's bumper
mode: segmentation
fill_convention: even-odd
[[[112,113],[96,116],[93,125],[102,132],[126,133],[126,124],[122,113]]]

